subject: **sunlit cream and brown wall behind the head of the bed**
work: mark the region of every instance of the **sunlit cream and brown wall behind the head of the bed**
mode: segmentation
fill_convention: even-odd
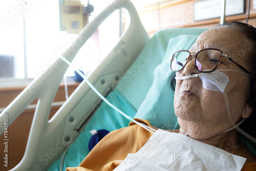
[[[183,27],[212,27],[218,25],[220,18],[207,19],[195,22],[194,21],[194,3],[201,0],[174,0],[161,3],[159,6],[152,5],[150,7],[144,7],[138,9],[140,19],[146,31],[153,35],[159,29],[167,28],[183,28]],[[254,0],[255,1],[255,0]],[[245,22],[248,11],[248,2],[245,3],[245,14],[227,16],[225,19],[227,22],[232,20],[241,20]],[[252,9],[252,3],[250,6],[250,15],[248,24],[256,26],[256,9]],[[159,10],[158,10],[159,9]],[[160,24],[159,28],[159,20]],[[150,19],[148,19],[150,18]]]

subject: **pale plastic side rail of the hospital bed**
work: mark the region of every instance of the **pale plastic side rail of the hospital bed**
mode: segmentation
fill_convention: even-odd
[[[115,88],[149,39],[134,5],[129,0],[113,2],[83,28],[78,38],[62,54],[72,61],[105,18],[119,8],[126,8],[129,12],[130,26],[114,49],[88,78],[104,96]],[[8,115],[10,125],[34,99],[38,98],[24,157],[12,170],[47,170],[79,135],[100,103],[99,97],[83,81],[48,121],[52,101],[68,67],[66,62],[58,58],[0,114],[2,134],[5,115]]]

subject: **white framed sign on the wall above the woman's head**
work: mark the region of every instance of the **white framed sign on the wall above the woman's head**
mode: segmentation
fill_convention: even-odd
[[[194,3],[194,20],[221,16],[223,0],[204,0]],[[255,0],[253,0],[254,3]],[[245,0],[226,0],[225,16],[245,13]]]

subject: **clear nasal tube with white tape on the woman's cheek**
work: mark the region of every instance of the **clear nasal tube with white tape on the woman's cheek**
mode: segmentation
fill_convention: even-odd
[[[226,103],[227,116],[228,116],[229,122],[231,123],[232,127],[230,127],[229,129],[227,129],[227,130],[225,130],[225,131],[223,131],[223,132],[221,132],[219,134],[226,133],[228,131],[236,129],[241,134],[243,134],[245,137],[249,138],[251,141],[256,143],[256,139],[255,138],[253,138],[252,136],[250,136],[249,134],[244,132],[242,129],[240,129],[240,127],[238,127],[241,123],[244,122],[245,119],[242,119],[237,124],[233,122],[233,119],[231,117],[228,97],[227,97],[227,94],[225,92],[225,88],[227,86],[229,78],[223,72],[237,72],[237,73],[241,73],[241,74],[244,74],[244,75],[248,75],[248,76],[256,79],[256,77],[254,77],[251,74],[248,74],[248,73],[245,73],[245,72],[242,72],[242,71],[237,71],[237,70],[217,70],[217,71],[210,72],[210,73],[199,73],[199,74],[193,74],[193,75],[182,76],[182,77],[177,77],[176,76],[175,79],[176,80],[184,80],[184,79],[189,79],[189,78],[200,77],[200,79],[202,80],[203,88],[205,88],[207,90],[210,90],[210,91],[221,91],[223,96],[224,96],[225,103]],[[187,135],[187,133],[185,135]]]

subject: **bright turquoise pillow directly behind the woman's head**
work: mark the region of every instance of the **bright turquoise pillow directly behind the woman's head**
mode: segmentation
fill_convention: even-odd
[[[174,113],[174,91],[170,87],[172,75],[170,59],[178,50],[188,50],[198,35],[172,35],[161,63],[154,71],[154,81],[134,118],[147,119],[160,129],[179,129]]]

